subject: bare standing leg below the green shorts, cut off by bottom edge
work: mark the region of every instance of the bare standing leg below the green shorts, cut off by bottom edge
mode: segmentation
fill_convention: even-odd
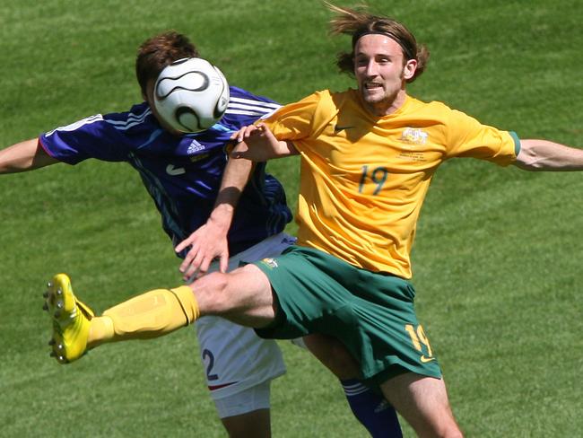
[[[449,407],[443,379],[405,372],[380,388],[420,437],[463,436]]]

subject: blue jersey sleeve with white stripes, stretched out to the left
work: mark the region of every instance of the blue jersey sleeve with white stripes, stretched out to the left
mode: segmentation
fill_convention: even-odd
[[[41,134],[39,142],[50,156],[69,164],[88,158],[121,162],[127,151],[115,126],[97,114]]]

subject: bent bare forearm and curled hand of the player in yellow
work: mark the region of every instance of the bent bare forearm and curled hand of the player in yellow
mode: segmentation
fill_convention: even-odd
[[[247,158],[252,162],[266,162],[299,153],[292,142],[275,138],[264,123],[241,128],[231,136],[231,140],[238,142],[231,157]]]

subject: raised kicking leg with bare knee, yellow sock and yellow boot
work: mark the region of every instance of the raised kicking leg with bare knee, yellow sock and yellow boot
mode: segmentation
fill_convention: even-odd
[[[53,320],[53,353],[61,363],[103,343],[166,335],[204,315],[257,328],[268,325],[275,315],[269,281],[253,265],[230,274],[209,274],[192,285],[142,293],[100,317],[74,296],[64,274],[53,278],[45,295]]]

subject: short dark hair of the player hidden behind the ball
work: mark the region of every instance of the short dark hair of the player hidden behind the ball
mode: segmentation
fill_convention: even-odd
[[[165,31],[146,39],[135,58],[135,75],[142,93],[145,94],[147,83],[156,80],[165,66],[183,57],[198,56],[195,45],[177,31]]]

